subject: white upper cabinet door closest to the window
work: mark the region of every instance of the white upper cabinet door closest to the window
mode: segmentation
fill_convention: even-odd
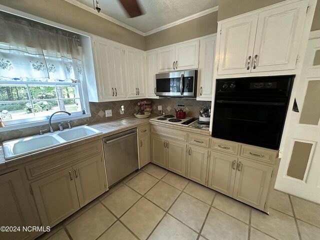
[[[108,42],[99,41],[95,39],[95,53],[97,61],[97,88],[99,98],[109,99],[114,97],[114,85],[115,85],[115,72],[114,64],[110,65],[110,62],[114,61],[113,48]],[[113,90],[112,90],[113,88]]]

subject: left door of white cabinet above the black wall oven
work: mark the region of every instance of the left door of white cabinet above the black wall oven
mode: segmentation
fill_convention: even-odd
[[[250,72],[257,20],[254,14],[221,23],[219,75]]]

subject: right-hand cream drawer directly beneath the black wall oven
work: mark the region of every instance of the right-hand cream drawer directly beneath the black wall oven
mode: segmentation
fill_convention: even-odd
[[[265,148],[242,145],[240,156],[245,156],[255,160],[273,164],[277,155],[277,151],[272,151]]]

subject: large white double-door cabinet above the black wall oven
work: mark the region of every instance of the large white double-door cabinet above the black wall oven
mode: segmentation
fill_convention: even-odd
[[[221,21],[217,74],[294,69],[306,7],[298,1]]]

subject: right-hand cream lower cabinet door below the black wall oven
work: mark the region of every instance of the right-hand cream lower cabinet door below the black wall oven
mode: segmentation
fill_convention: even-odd
[[[270,166],[239,158],[233,198],[263,209],[272,169]]]

